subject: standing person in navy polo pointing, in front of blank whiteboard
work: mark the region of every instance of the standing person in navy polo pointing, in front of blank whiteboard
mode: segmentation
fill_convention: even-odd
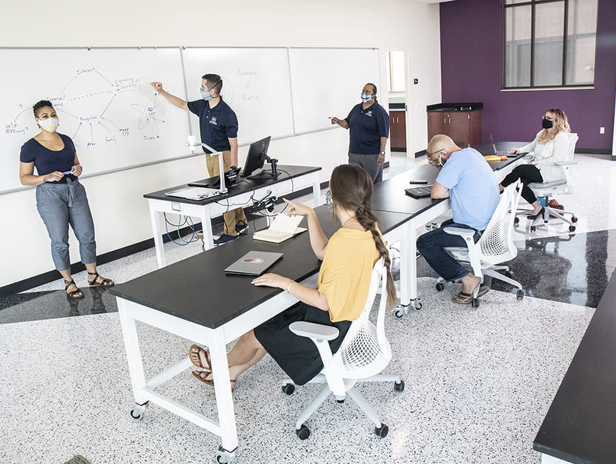
[[[376,86],[367,83],[361,90],[361,103],[345,119],[331,117],[331,123],[350,129],[348,162],[368,171],[372,182],[383,180],[385,146],[389,137],[389,115],[376,101]]]

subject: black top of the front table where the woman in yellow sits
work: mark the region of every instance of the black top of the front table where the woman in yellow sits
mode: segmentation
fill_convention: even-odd
[[[317,207],[315,211],[324,233],[331,237],[339,225],[334,223],[326,206]],[[383,233],[408,220],[405,214],[385,211],[375,211],[375,214]],[[300,225],[307,227],[306,218]],[[307,232],[281,244],[253,240],[252,235],[246,235],[127,283],[116,284],[110,293],[196,324],[216,328],[283,291],[255,287],[251,284],[251,276],[224,274],[224,268],[251,250],[284,253],[283,258],[268,272],[294,281],[302,281],[318,272],[321,265],[310,247]]]

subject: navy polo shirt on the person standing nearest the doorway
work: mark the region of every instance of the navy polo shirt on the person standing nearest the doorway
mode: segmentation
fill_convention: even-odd
[[[352,107],[346,116],[350,130],[348,152],[376,155],[381,151],[381,137],[389,137],[389,115],[376,101],[367,109],[362,105]]]

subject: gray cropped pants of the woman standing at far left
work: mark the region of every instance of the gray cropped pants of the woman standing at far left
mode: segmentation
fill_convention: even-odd
[[[97,260],[94,222],[86,189],[79,181],[43,183],[36,187],[36,209],[51,238],[51,257],[57,270],[70,268],[68,224],[79,240],[79,255],[84,264]]]

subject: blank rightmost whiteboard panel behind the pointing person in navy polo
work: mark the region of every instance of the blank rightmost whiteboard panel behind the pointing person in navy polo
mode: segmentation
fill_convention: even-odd
[[[346,118],[365,83],[374,83],[387,102],[378,49],[290,49],[289,61],[295,133],[331,127],[328,116]]]

